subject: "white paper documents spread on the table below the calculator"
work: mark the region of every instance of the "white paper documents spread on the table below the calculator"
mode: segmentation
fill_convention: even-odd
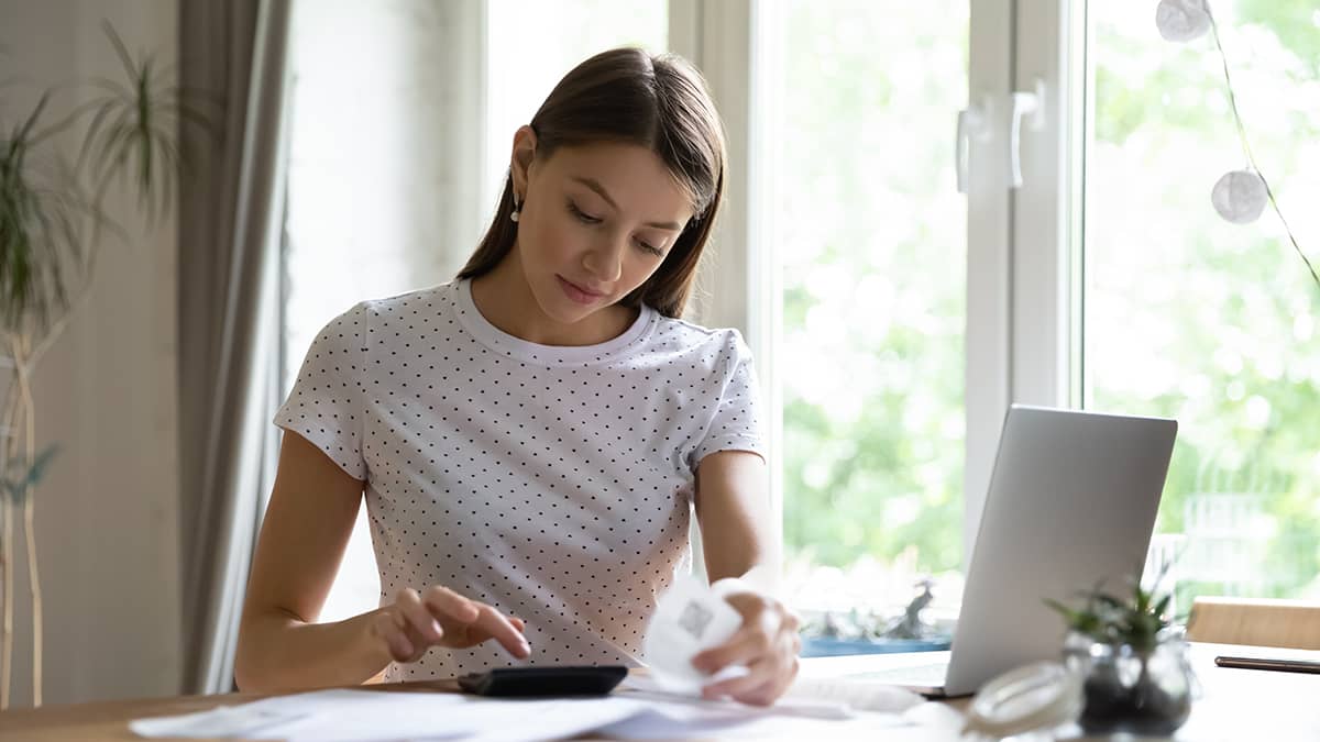
[[[193,714],[129,724],[141,737],[242,737],[375,742],[395,739],[562,739],[595,733],[620,739],[718,734],[722,738],[821,738],[925,724],[903,704],[894,713],[789,694],[771,708],[667,694],[630,679],[598,698],[483,698],[457,693],[334,689],[277,696]],[[929,710],[929,709],[928,709]],[[923,721],[917,721],[923,720]],[[956,724],[952,722],[950,724]]]

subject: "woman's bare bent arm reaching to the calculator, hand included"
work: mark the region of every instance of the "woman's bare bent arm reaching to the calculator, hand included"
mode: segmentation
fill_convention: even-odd
[[[335,623],[315,623],[362,503],[362,482],[321,449],[285,432],[239,627],[234,677],[243,691],[356,685],[391,661],[430,647],[495,638],[529,654],[523,622],[446,588],[405,588],[395,601]]]

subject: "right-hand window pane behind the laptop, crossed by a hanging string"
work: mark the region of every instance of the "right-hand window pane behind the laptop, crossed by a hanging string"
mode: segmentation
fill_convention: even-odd
[[[1144,4],[1090,3],[1085,403],[1179,419],[1156,540],[1197,594],[1320,595],[1320,287],[1267,207],[1210,205],[1246,166],[1212,37],[1160,38]],[[1214,4],[1246,136],[1320,253],[1320,15]]]

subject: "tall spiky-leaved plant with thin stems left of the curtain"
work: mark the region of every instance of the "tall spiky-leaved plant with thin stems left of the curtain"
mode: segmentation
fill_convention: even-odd
[[[216,131],[203,108],[216,99],[174,83],[176,66],[154,54],[133,57],[108,22],[106,37],[123,67],[121,81],[95,77],[90,99],[46,124],[55,88],[12,128],[0,124],[0,353],[9,368],[0,417],[0,578],[4,619],[0,634],[0,709],[9,705],[13,656],[13,529],[22,510],[28,584],[32,593],[33,705],[41,705],[42,609],[37,570],[33,492],[51,450],[36,450],[32,379],[45,351],[86,300],[98,246],[108,232],[128,232],[104,210],[110,187],[132,190],[137,207],[154,227],[169,215],[178,180],[189,170],[178,131],[197,125]],[[0,90],[13,81],[0,82]],[[3,112],[3,108],[0,108]],[[61,149],[59,135],[87,121],[77,157]]]

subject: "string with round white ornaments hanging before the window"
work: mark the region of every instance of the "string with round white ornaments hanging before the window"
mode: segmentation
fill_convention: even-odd
[[[1214,210],[1220,217],[1234,224],[1246,224],[1258,219],[1261,213],[1265,211],[1266,203],[1269,203],[1274,209],[1275,215],[1279,217],[1283,231],[1287,232],[1288,240],[1292,243],[1292,250],[1307,264],[1307,269],[1311,271],[1311,279],[1320,287],[1320,276],[1316,276],[1316,269],[1311,265],[1305,253],[1302,252],[1298,239],[1292,235],[1292,228],[1288,227],[1288,220],[1283,218],[1283,211],[1279,210],[1279,203],[1274,198],[1270,182],[1265,180],[1261,169],[1255,165],[1251,145],[1246,139],[1246,128],[1242,125],[1241,114],[1238,114],[1237,95],[1233,92],[1233,77],[1229,74],[1228,55],[1224,54],[1224,44],[1220,41],[1220,28],[1214,21],[1214,13],[1210,12],[1209,1],[1160,0],[1155,8],[1155,25],[1159,28],[1162,37],[1179,44],[1195,41],[1209,32],[1214,38],[1214,48],[1220,53],[1220,62],[1224,66],[1224,84],[1229,95],[1229,108],[1233,111],[1233,121],[1237,124],[1238,140],[1242,143],[1242,152],[1246,154],[1247,166],[1241,170],[1225,173],[1214,184],[1214,187],[1210,189],[1210,203],[1214,206]]]

